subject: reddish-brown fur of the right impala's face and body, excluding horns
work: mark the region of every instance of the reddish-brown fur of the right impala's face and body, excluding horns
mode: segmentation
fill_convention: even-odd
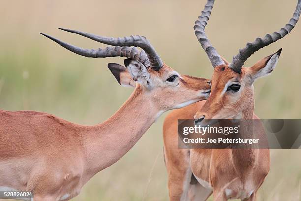
[[[270,168],[268,149],[178,149],[178,119],[258,119],[254,114],[253,75],[265,67],[271,56],[250,68],[243,67],[236,73],[225,65],[215,67],[211,79],[211,94],[201,101],[174,110],[165,119],[163,126],[164,155],[168,173],[168,188],[171,201],[205,201],[213,193],[215,201],[243,198],[255,201],[256,193]],[[268,72],[269,73],[269,72]],[[229,80],[241,84],[239,94],[223,93]],[[263,133],[257,128],[256,133]],[[191,184],[188,173],[209,184]],[[226,195],[225,190],[231,193]],[[201,192],[201,193],[200,193]],[[245,195],[240,195],[246,192]],[[249,194],[248,194],[249,193]]]

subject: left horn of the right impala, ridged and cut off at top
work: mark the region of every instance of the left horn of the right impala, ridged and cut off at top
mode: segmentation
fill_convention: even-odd
[[[214,0],[207,0],[204,10],[202,11],[201,16],[199,16],[199,19],[195,22],[193,29],[195,35],[198,38],[198,41],[201,43],[209,60],[211,61],[212,66],[216,67],[225,63],[223,62],[220,55],[217,53],[216,49],[212,46],[205,34],[205,27],[207,25],[207,21],[209,20],[213,4]]]

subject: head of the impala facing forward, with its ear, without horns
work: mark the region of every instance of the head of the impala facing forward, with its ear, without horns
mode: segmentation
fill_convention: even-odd
[[[237,73],[228,62],[214,68],[211,79],[211,94],[194,119],[241,119],[247,108],[253,109],[255,79],[268,75],[278,62],[280,49],[275,54],[259,60],[252,67],[242,67]],[[253,110],[252,110],[253,112]]]

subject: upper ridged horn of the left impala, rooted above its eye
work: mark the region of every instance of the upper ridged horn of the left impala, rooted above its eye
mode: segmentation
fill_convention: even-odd
[[[155,51],[154,47],[151,45],[150,41],[146,39],[144,36],[129,36],[124,38],[113,38],[113,37],[104,37],[104,36],[98,36],[93,35],[90,33],[80,32],[76,30],[70,30],[70,29],[63,29],[59,28],[61,30],[76,33],[79,35],[82,35],[84,37],[88,37],[92,40],[95,40],[97,42],[101,42],[103,44],[107,45],[113,45],[113,46],[135,46],[142,48],[145,53],[148,55],[148,58],[151,63],[151,67],[154,70],[159,70],[163,66],[163,62],[157,52]]]

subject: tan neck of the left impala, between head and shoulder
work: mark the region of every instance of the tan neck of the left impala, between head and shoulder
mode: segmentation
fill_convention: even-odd
[[[137,86],[111,118],[88,129],[84,136],[88,177],[117,162],[162,114],[151,95]]]

